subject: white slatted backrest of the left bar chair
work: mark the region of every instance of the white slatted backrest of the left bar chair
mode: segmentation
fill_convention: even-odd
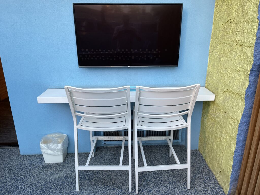
[[[75,115],[89,118],[128,117],[130,86],[111,89],[82,89],[70,86],[64,88],[74,122]]]

